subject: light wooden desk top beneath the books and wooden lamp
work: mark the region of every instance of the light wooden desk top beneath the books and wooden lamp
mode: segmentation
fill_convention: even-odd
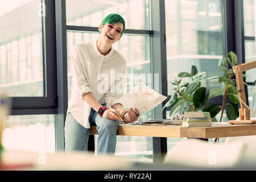
[[[91,126],[90,134],[98,134]],[[212,125],[210,127],[181,127],[175,125],[119,125],[117,135],[171,138],[221,138],[256,135],[256,125]]]

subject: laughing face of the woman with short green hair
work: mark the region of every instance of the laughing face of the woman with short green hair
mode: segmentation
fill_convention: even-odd
[[[123,30],[123,23],[106,23],[104,26],[100,24],[98,30],[101,32],[100,38],[105,40],[108,44],[114,44],[121,39],[121,32]]]

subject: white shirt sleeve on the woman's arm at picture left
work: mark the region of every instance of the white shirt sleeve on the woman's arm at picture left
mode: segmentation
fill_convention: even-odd
[[[73,84],[77,86],[77,92],[81,96],[81,100],[83,100],[82,95],[84,93],[92,93],[92,90],[89,87],[88,80],[86,79],[85,69],[82,66],[79,47],[77,45],[72,48],[72,69],[73,69]]]

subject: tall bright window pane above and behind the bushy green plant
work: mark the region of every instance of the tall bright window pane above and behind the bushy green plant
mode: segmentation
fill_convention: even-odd
[[[191,66],[196,65],[207,78],[219,69],[218,60],[224,55],[222,1],[168,0],[165,5],[167,81],[171,95],[171,82],[179,72],[191,72]],[[210,89],[218,81],[204,80],[202,84]]]

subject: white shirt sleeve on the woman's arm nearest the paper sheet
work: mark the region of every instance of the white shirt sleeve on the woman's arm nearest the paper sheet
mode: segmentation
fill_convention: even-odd
[[[120,79],[115,80],[115,84],[112,86],[116,86],[116,85],[122,85],[122,92],[120,92],[120,90],[115,90],[115,93],[110,93],[111,90],[111,86],[109,88],[109,93],[105,93],[104,97],[105,97],[105,102],[106,102],[106,107],[110,107],[113,106],[114,104],[118,104],[119,101],[118,99],[121,98],[123,96],[123,91],[124,89],[126,89],[126,65],[125,68],[123,68],[122,72],[120,72],[122,74],[122,77]],[[119,93],[118,93],[119,91]]]

